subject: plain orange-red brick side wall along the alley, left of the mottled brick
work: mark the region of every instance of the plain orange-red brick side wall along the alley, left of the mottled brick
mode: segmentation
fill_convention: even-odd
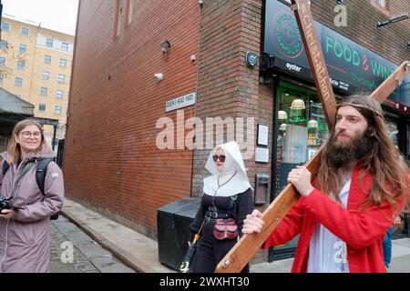
[[[135,0],[133,12],[115,37],[116,1],[80,1],[64,175],[67,197],[154,237],[157,209],[190,196],[192,152],[159,150],[156,122],[176,122],[165,102],[196,90],[200,7]]]

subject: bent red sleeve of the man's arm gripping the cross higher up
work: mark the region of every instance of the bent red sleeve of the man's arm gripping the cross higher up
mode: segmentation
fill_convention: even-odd
[[[354,195],[352,191],[350,195]],[[363,210],[348,210],[314,189],[304,200],[304,206],[334,236],[354,248],[370,246],[392,224],[393,208],[387,202]]]

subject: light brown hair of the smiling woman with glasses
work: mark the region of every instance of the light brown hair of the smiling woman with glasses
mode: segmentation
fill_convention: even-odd
[[[38,122],[36,122],[36,120],[32,120],[32,119],[22,120],[15,125],[15,129],[13,129],[13,134],[11,135],[10,142],[8,144],[7,163],[9,165],[17,164],[18,159],[21,156],[21,148],[20,148],[20,145],[16,143],[15,136],[20,135],[22,130],[25,129],[26,126],[28,125],[36,125],[36,127],[41,132],[41,143],[40,143],[40,146],[38,146],[38,148],[36,149],[35,154],[38,154],[40,152],[48,152],[51,150],[46,142],[46,138],[44,137],[44,132],[43,132],[43,128],[41,127],[41,125]]]

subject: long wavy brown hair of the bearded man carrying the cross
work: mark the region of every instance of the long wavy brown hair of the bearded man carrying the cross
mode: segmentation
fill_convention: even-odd
[[[370,149],[357,161],[357,164],[364,168],[365,173],[373,176],[372,188],[363,206],[379,206],[381,202],[387,201],[395,208],[395,211],[399,210],[396,209],[397,200],[408,194],[409,170],[388,135],[381,105],[374,98],[363,95],[350,96],[338,108],[343,105],[354,106],[364,115],[368,123],[367,131],[370,132]],[[334,133],[335,126],[331,130],[331,135]],[[326,149],[327,146],[323,146],[321,166],[316,182],[324,194],[333,193],[340,203],[338,194],[341,190],[341,183],[337,173],[338,169],[330,165]]]

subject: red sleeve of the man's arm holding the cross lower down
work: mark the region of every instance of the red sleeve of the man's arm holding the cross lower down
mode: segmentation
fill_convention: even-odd
[[[261,246],[262,249],[268,248],[269,246],[282,245],[301,233],[304,214],[304,199],[305,198],[301,196],[299,200],[296,201],[289,213],[283,217],[281,223],[276,226],[272,234]]]

